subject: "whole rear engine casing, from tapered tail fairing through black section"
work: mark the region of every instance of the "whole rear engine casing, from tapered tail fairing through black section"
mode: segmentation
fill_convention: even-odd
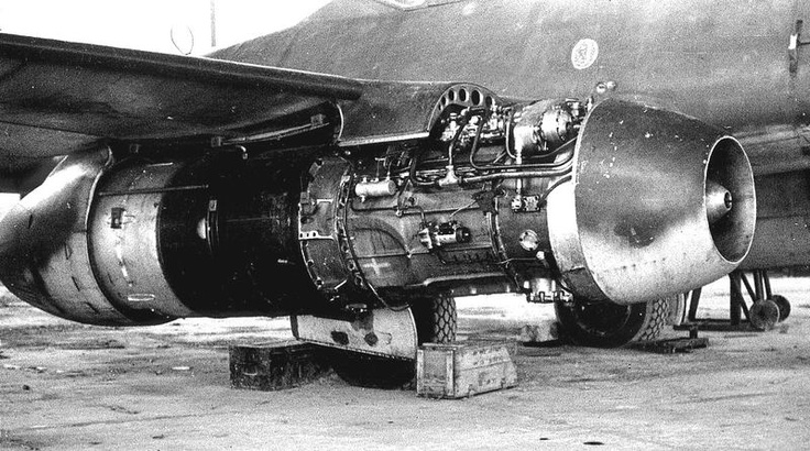
[[[92,324],[317,310],[291,160],[68,156],[3,219],[0,277],[23,300]]]

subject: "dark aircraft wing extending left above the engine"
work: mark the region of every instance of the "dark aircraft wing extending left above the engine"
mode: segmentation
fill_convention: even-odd
[[[445,86],[0,34],[0,168],[99,141],[424,134]]]

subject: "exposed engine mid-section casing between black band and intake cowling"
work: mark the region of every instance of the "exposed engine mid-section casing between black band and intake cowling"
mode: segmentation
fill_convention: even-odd
[[[368,170],[352,173],[339,158],[324,158],[313,168],[306,197],[314,206],[302,209],[300,238],[310,275],[327,297],[358,296],[360,288],[373,292],[366,297],[371,304],[402,305],[415,290],[514,280],[504,266],[521,266],[521,280],[550,276],[536,251],[518,245],[519,233],[533,229],[548,248],[545,211],[515,213],[508,197],[477,200],[479,186],[405,188],[398,196],[366,199],[351,195],[354,184],[373,176]],[[547,183],[537,179],[527,187]],[[464,242],[429,249],[419,240],[426,224],[451,221],[469,230]]]

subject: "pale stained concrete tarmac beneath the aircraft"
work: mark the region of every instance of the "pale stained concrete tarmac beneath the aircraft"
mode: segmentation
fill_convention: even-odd
[[[700,317],[727,318],[725,283]],[[228,345],[288,338],[284,319],[100,328],[0,300],[0,449],[808,449],[810,280],[774,279],[792,312],[768,332],[701,332],[661,355],[521,348],[519,385],[461,400],[363,389],[335,375],[233,389]],[[550,306],[459,300],[461,338],[516,338]],[[668,337],[686,332],[668,330]]]

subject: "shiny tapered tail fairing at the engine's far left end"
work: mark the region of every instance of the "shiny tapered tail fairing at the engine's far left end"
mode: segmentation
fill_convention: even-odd
[[[102,326],[165,322],[171,318],[110,299],[96,279],[88,211],[108,148],[68,156],[3,218],[0,278],[26,302],[66,319]]]

